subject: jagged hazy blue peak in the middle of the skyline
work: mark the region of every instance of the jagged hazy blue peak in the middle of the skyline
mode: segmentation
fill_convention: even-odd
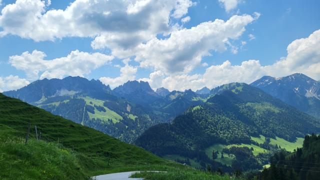
[[[119,97],[140,105],[148,105],[159,99],[160,96],[155,93],[149,83],[144,81],[128,81],[113,89],[114,94]]]

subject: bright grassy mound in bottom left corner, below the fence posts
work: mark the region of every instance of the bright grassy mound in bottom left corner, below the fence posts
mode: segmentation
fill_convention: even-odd
[[[89,180],[70,150],[30,139],[1,140],[1,180]]]

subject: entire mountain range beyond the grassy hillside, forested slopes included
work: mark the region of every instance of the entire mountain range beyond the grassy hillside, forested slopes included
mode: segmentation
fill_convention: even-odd
[[[69,76],[3,94],[197,168],[210,164],[213,153],[224,171],[259,169],[279,146],[293,151],[305,134],[320,131],[319,82],[303,74],[195,92],[153,91],[143,81],[111,90]]]

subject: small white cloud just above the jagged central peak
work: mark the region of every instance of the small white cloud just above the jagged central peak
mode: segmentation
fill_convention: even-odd
[[[104,84],[110,85],[111,88],[115,88],[129,80],[134,80],[136,72],[137,67],[125,64],[123,67],[120,68],[120,76],[115,78],[101,77],[99,78],[99,80]]]

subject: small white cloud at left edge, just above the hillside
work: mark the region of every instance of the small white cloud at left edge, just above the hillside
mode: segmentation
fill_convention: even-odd
[[[9,75],[0,77],[0,92],[16,90],[29,84],[26,79],[19,78],[18,76]]]

